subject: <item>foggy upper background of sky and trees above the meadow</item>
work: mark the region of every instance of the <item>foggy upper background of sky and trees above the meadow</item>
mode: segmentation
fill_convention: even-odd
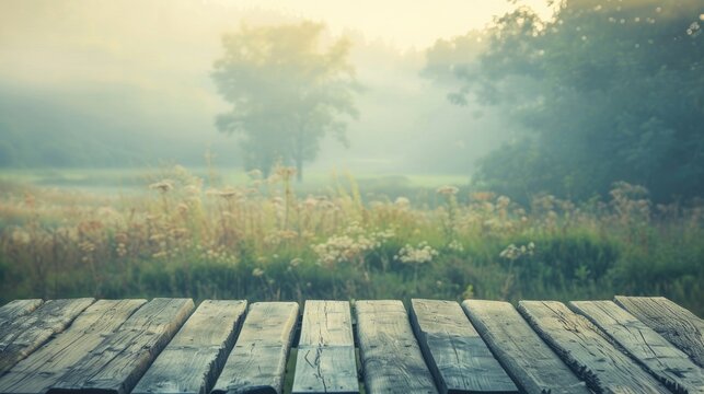
[[[701,1],[441,5],[3,2],[0,165],[208,155],[299,176],[459,174],[524,201],[616,182],[701,195]]]

